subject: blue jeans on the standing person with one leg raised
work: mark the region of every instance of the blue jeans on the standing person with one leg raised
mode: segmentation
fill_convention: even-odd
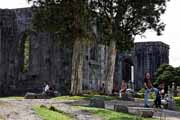
[[[157,88],[150,88],[150,89],[145,89],[144,92],[144,105],[147,106],[148,105],[148,97],[149,97],[149,93],[153,91],[155,93],[155,95],[157,96],[158,94],[158,89]]]

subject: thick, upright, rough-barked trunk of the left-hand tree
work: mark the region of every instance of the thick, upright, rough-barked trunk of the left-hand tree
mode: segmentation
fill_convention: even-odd
[[[74,42],[72,57],[72,74],[71,74],[71,95],[80,95],[82,93],[82,67],[83,67],[83,50],[79,38]]]

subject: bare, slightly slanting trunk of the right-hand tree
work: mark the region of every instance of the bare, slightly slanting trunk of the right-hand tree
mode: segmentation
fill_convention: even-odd
[[[116,43],[114,40],[110,41],[110,45],[108,48],[108,58],[105,67],[105,88],[106,94],[112,94],[113,89],[113,79],[114,79],[114,70],[115,70],[115,61],[116,61]]]

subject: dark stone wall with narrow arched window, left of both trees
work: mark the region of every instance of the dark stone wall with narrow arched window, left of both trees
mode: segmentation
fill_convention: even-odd
[[[45,81],[68,93],[72,50],[60,47],[53,34],[31,31],[31,19],[29,8],[0,10],[0,95],[41,92]],[[29,41],[26,71],[25,40]]]

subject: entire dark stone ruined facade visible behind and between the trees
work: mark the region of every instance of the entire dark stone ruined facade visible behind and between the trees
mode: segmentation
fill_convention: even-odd
[[[66,94],[72,49],[60,47],[53,34],[31,31],[31,19],[29,8],[0,9],[0,95],[41,92],[45,81]],[[83,89],[97,90],[104,83],[107,49],[96,45],[84,50]],[[122,79],[142,87],[144,73],[153,74],[168,57],[169,46],[162,42],[136,43],[129,52],[118,52],[114,87],[118,89]]]

